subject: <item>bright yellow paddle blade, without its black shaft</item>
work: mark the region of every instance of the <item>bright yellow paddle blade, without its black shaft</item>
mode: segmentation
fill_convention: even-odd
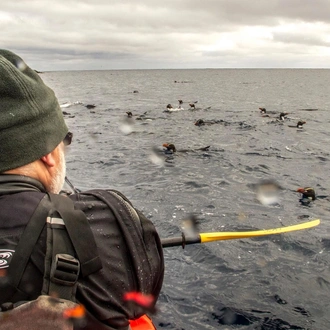
[[[242,231],[242,232],[217,232],[217,233],[200,233],[201,243],[207,243],[212,241],[221,241],[228,239],[240,239],[240,238],[249,238],[249,237],[258,237],[258,236],[267,236],[287,233],[290,231],[302,230],[315,227],[320,224],[320,220],[312,220],[298,225],[274,228],[274,229],[265,229],[265,230],[256,230],[256,231]]]

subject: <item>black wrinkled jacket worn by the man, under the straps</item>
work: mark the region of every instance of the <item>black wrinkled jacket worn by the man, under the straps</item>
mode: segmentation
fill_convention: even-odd
[[[10,256],[45,194],[42,184],[34,179],[0,175],[0,274],[5,275],[10,267]],[[164,260],[158,234],[151,221],[118,192],[91,190],[69,198],[74,201],[75,209],[87,216],[102,262],[101,270],[79,278],[77,301],[110,327],[125,328],[129,319],[141,316],[143,311],[124,303],[123,294],[138,291],[157,298],[160,293]],[[127,221],[125,228],[117,221],[123,215]],[[26,300],[40,295],[45,251],[44,229],[20,282]],[[0,303],[3,302],[0,292]]]

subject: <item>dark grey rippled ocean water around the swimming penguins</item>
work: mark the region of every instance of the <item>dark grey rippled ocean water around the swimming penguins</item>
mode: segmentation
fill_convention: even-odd
[[[120,190],[161,237],[180,236],[182,221],[192,214],[200,232],[321,219],[313,229],[282,235],[164,249],[157,329],[329,328],[330,70],[79,71],[41,77],[54,89],[74,133],[69,179],[79,189]],[[166,112],[167,104],[178,108],[178,100],[182,109]],[[263,117],[259,107],[274,114]],[[280,112],[288,113],[285,121],[276,120]],[[197,119],[217,123],[198,127]],[[289,127],[298,120],[306,121],[302,129]],[[163,143],[174,143],[178,151],[165,154]],[[281,187],[276,203],[258,198],[256,187],[264,181]],[[318,196],[309,205],[296,192],[305,186]]]

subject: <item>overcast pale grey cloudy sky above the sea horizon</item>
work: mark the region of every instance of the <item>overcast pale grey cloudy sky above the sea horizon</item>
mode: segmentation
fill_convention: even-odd
[[[37,70],[330,68],[330,0],[1,0]]]

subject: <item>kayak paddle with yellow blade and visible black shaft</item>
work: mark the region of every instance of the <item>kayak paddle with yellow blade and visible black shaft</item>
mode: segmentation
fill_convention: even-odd
[[[315,227],[320,224],[320,220],[312,220],[308,222],[303,222],[298,225],[265,229],[265,230],[255,230],[255,231],[241,231],[241,232],[216,232],[216,233],[200,233],[194,237],[186,237],[183,233],[181,237],[172,237],[164,238],[161,240],[162,246],[182,246],[183,248],[187,244],[196,244],[196,243],[208,243],[213,241],[222,241],[228,239],[240,239],[240,238],[252,238],[259,236],[268,236],[287,233],[290,231],[303,230]]]

